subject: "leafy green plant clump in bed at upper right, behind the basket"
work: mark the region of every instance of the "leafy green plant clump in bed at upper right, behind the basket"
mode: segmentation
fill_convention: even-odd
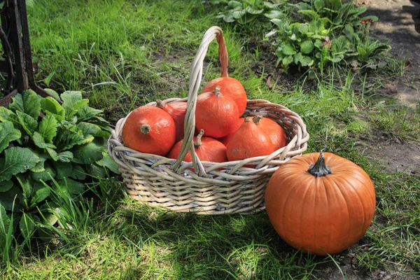
[[[305,0],[295,4],[302,22],[272,19],[276,28],[266,36],[276,36],[277,64],[288,68],[318,66],[344,62],[357,67],[375,67],[375,58],[391,49],[388,41],[381,43],[369,36],[370,24],[377,19],[365,16],[365,7],[351,1]]]

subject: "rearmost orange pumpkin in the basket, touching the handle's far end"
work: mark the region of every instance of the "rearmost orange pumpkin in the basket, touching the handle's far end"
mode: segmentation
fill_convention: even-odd
[[[246,91],[239,80],[231,77],[220,77],[209,81],[202,92],[211,92],[216,87],[221,87],[221,92],[232,98],[238,106],[238,118],[246,109]]]

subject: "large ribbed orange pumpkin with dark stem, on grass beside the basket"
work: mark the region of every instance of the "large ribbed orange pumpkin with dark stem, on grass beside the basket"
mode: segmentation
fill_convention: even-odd
[[[366,172],[332,153],[289,160],[274,172],[265,192],[276,232],[290,246],[316,255],[355,244],[372,222],[375,204]]]

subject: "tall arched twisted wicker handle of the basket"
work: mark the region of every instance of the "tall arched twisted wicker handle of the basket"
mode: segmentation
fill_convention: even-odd
[[[206,174],[204,167],[197,157],[194,148],[194,132],[195,132],[195,105],[197,103],[197,94],[200,90],[200,84],[203,73],[203,62],[206,57],[207,50],[209,49],[210,43],[216,38],[219,50],[218,56],[221,62],[221,76],[228,77],[228,50],[225,44],[225,38],[223,38],[223,31],[220,27],[214,26],[207,29],[204,34],[200,46],[198,47],[197,55],[193,60],[193,66],[190,72],[190,83],[188,84],[188,99],[186,118],[184,119],[184,138],[176,162],[172,165],[172,169],[176,169],[181,165],[183,158],[185,158],[188,151],[191,152],[191,158],[193,158],[193,166],[195,172],[200,171],[201,174]],[[205,134],[205,132],[204,132]]]

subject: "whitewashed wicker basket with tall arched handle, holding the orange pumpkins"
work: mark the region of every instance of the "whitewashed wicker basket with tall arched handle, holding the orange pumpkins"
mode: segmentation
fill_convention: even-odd
[[[197,158],[193,146],[195,104],[202,80],[204,57],[214,38],[219,45],[221,75],[228,76],[228,52],[223,32],[219,27],[211,27],[204,34],[193,61],[188,99],[165,100],[167,103],[187,102],[185,137],[177,160],[139,153],[125,147],[121,132],[127,117],[118,121],[109,138],[109,155],[120,165],[127,193],[134,200],[172,211],[197,214],[260,211],[265,209],[265,187],[272,173],[284,162],[301,155],[307,149],[309,134],[297,113],[266,100],[248,100],[244,115],[262,115],[275,120],[286,132],[288,145],[268,156],[235,162],[201,162]],[[155,102],[149,105],[155,105]],[[193,162],[182,161],[188,151],[193,155]],[[255,165],[255,168],[244,167],[249,164]]]

